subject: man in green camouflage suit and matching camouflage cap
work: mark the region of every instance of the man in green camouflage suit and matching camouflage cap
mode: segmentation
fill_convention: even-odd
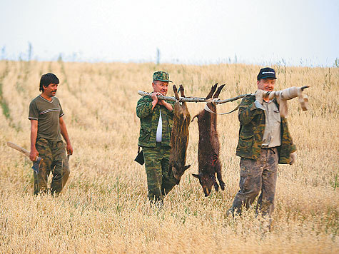
[[[143,96],[136,106],[141,123],[138,146],[143,148],[148,198],[160,204],[163,196],[176,185],[173,173],[168,176],[174,102],[157,98],[157,95],[166,96],[168,82],[171,81],[165,71],[153,73],[153,93]]]

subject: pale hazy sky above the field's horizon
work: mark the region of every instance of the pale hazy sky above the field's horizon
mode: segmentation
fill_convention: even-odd
[[[0,32],[6,59],[333,66],[339,1],[0,0]]]

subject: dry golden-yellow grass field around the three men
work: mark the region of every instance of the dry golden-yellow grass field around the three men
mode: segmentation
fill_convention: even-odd
[[[168,71],[186,96],[206,96],[218,82],[226,83],[220,98],[231,98],[255,91],[260,66],[0,61],[0,253],[338,253],[339,68],[273,68],[276,89],[311,88],[309,111],[289,101],[298,160],[279,166],[268,232],[255,208],[241,218],[226,216],[238,191],[237,113],[218,116],[226,191],[205,198],[191,176],[198,172],[196,121],[188,145],[192,166],[161,210],[150,208],[145,169],[133,161],[137,91],[151,91],[153,71]],[[29,102],[47,72],[61,81],[56,96],[74,146],[71,176],[58,198],[34,196],[31,162],[6,146],[12,141],[29,149]],[[203,106],[188,103],[191,116]]]

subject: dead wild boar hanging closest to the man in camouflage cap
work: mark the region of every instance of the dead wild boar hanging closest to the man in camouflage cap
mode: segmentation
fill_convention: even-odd
[[[185,97],[183,86],[180,85],[181,97]],[[176,85],[173,85],[174,95],[179,99]],[[186,102],[177,101],[173,108],[173,128],[171,134],[171,155],[169,159],[168,175],[173,172],[176,184],[179,184],[181,176],[191,165],[185,166],[186,151],[188,145],[188,126],[191,123],[191,115],[188,112]]]

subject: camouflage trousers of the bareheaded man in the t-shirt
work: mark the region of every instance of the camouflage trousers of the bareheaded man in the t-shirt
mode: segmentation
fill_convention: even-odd
[[[64,142],[51,142],[45,138],[38,138],[36,140],[36,150],[44,160],[41,161],[39,173],[34,172],[34,194],[46,193],[50,173],[53,175],[51,193],[60,193],[69,178],[69,162],[66,158]]]

